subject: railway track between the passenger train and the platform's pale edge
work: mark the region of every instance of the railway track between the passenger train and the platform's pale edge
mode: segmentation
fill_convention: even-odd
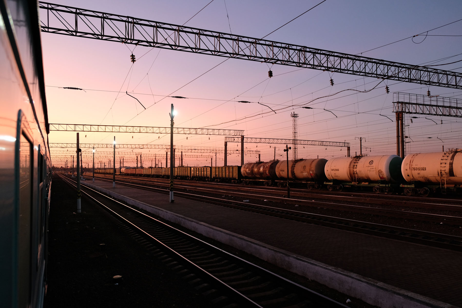
[[[75,187],[75,181],[60,176]],[[87,198],[216,307],[347,307],[96,190],[81,188]]]

